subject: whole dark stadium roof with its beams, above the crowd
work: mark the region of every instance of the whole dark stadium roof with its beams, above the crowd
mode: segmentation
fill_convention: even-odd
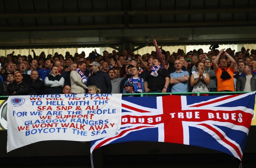
[[[76,39],[74,45],[139,44],[152,37],[167,43],[255,41],[255,26],[255,0],[0,0],[0,35],[6,45],[48,35],[86,38]]]

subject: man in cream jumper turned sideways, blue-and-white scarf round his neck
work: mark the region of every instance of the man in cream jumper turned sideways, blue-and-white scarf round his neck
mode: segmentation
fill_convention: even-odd
[[[71,93],[84,94],[85,90],[87,89],[87,80],[84,74],[86,70],[86,63],[83,61],[79,61],[77,65],[77,69],[71,71],[70,73]]]

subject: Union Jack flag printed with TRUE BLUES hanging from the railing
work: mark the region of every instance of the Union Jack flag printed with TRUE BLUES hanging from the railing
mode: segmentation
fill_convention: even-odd
[[[210,148],[242,159],[255,92],[223,96],[123,97],[117,135],[91,142],[170,142]]]

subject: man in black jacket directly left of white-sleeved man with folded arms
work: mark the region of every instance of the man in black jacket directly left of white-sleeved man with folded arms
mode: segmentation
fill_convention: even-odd
[[[31,71],[31,83],[29,84],[29,94],[30,95],[42,95],[45,91],[45,84],[38,77],[37,70]]]

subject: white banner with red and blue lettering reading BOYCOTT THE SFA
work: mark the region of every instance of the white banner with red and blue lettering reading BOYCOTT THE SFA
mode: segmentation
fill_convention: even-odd
[[[122,94],[9,96],[7,152],[46,140],[92,141],[115,135]]]

